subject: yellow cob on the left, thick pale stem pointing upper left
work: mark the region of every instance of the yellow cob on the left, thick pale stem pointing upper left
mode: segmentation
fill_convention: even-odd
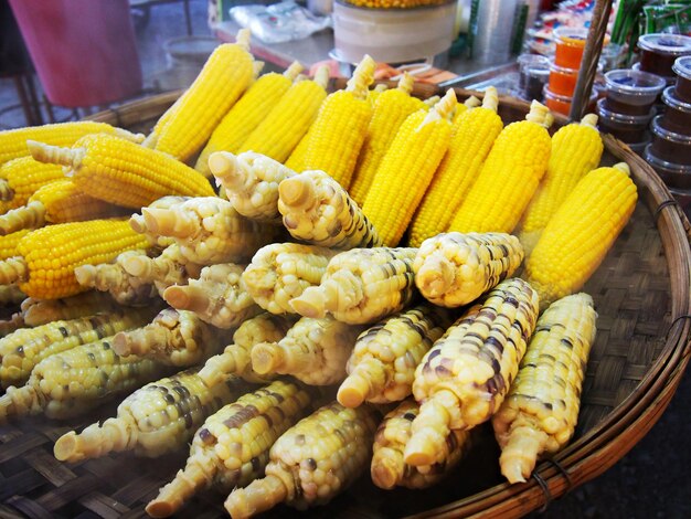
[[[167,194],[211,197],[209,181],[167,153],[109,135],[87,135],[72,148],[29,142],[41,162],[73,169],[74,184],[98,200],[139,210]]]

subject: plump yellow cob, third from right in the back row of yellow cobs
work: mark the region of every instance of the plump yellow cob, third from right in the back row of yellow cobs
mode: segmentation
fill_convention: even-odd
[[[449,231],[513,231],[548,169],[552,119],[550,110],[533,100],[525,120],[501,130]]]

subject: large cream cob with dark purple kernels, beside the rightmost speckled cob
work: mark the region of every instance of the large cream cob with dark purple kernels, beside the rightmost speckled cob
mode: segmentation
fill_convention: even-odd
[[[421,409],[405,463],[437,463],[450,430],[471,428],[499,409],[535,328],[538,306],[528,283],[507,279],[434,343],[415,371]]]

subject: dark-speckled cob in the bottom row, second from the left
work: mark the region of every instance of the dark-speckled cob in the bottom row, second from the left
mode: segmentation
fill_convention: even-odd
[[[194,435],[185,467],[147,506],[149,516],[168,517],[212,485],[227,492],[261,477],[269,448],[310,401],[297,384],[277,380],[209,416]]]

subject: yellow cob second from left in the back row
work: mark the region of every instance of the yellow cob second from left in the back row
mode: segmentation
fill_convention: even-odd
[[[259,77],[213,130],[209,142],[196,159],[194,169],[210,177],[209,157],[211,153],[215,151],[236,153],[249,134],[259,126],[288,92],[301,70],[302,65],[294,62],[283,75],[270,72]]]

